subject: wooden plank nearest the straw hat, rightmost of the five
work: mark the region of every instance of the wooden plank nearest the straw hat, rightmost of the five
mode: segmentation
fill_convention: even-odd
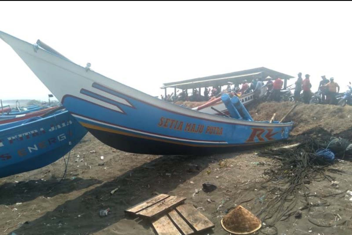
[[[180,212],[181,216],[186,219],[197,232],[215,227],[207,217],[191,204],[177,206],[176,210]]]

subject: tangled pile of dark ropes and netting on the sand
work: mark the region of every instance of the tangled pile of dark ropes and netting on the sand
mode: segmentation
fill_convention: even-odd
[[[259,153],[261,156],[273,158],[274,161],[270,168],[265,169],[263,176],[266,181],[262,184],[262,187],[272,194],[272,199],[258,216],[266,225],[276,230],[276,222],[297,215],[299,211],[309,212],[313,207],[328,206],[327,197],[335,197],[344,192],[320,196],[310,192],[309,184],[312,181],[334,181],[331,173],[347,173],[332,165],[333,160],[329,154],[332,152],[335,158],[343,159],[352,156],[351,147],[351,143],[345,139],[314,137],[307,138],[294,148],[265,150]],[[308,219],[316,224],[312,219]],[[320,226],[334,225],[338,224]]]

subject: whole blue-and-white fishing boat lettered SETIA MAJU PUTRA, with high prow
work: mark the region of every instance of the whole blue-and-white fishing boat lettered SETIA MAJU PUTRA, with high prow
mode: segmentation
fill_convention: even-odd
[[[232,151],[286,139],[292,128],[293,123],[255,122],[228,97],[224,100],[233,117],[174,105],[96,73],[90,64],[81,67],[39,40],[30,44],[1,31],[0,38],[78,122],[103,143],[123,151],[164,155]]]

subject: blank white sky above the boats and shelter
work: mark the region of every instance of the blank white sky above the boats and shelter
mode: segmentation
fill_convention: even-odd
[[[0,2],[0,30],[151,95],[164,82],[267,67],[352,81],[351,2]],[[0,40],[0,98],[48,89]],[[59,81],[58,81],[59,82]],[[172,89],[170,89],[170,93]]]

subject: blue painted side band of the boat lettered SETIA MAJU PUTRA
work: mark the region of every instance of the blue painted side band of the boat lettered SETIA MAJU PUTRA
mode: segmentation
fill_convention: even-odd
[[[287,131],[291,128],[287,124],[255,128],[252,123],[258,122],[237,125],[200,119],[146,104],[142,100],[96,83],[92,87],[96,88],[96,92],[94,89],[94,92],[81,90],[87,99],[70,95],[62,99],[64,106],[68,110],[74,110],[75,118],[90,131],[95,129],[137,138],[204,147],[248,145],[282,140],[287,138],[285,128]],[[99,90],[123,99],[124,104],[104,97],[102,93],[97,94]],[[99,102],[90,102],[90,98]],[[113,110],[109,105],[115,105],[121,111]]]

